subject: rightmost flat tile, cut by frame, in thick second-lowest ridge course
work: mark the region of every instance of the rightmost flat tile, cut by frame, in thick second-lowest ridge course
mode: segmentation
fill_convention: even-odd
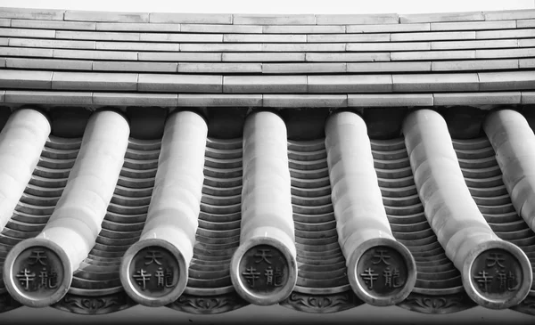
[[[535,89],[533,71],[481,72],[480,90],[520,90]]]

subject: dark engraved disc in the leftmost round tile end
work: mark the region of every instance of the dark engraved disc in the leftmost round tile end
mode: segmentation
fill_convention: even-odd
[[[34,247],[21,252],[13,263],[15,284],[28,297],[50,297],[63,279],[60,257],[49,248]]]

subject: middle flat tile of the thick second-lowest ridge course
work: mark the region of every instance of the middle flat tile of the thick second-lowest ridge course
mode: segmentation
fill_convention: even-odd
[[[306,93],[306,76],[225,76],[223,93]]]

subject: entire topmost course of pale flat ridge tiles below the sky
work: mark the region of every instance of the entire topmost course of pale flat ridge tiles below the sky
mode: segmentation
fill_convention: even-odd
[[[535,9],[478,12],[372,13],[372,14],[233,14],[185,12],[96,12],[40,8],[0,7],[0,18],[70,20],[122,23],[193,23],[227,25],[352,25],[407,24],[535,19]]]

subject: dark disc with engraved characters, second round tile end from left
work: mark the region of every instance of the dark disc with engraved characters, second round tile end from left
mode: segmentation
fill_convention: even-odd
[[[143,248],[132,258],[130,276],[138,292],[163,297],[177,286],[179,265],[171,253],[161,247]]]

